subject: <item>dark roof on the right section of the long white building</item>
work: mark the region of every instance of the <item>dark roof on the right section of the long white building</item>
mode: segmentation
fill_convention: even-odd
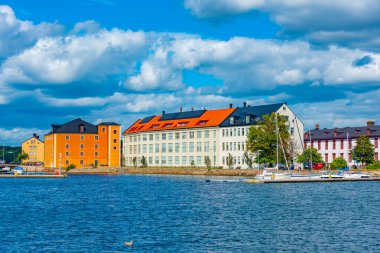
[[[264,115],[270,115],[273,112],[277,112],[278,109],[281,108],[282,105],[285,103],[280,104],[270,104],[270,105],[258,105],[258,106],[245,106],[245,107],[238,107],[236,110],[230,114],[229,117],[227,117],[222,124],[220,124],[221,127],[229,127],[229,126],[244,126],[244,125],[252,125],[255,124],[257,121],[262,120]],[[250,122],[246,122],[246,116],[250,116]],[[230,118],[234,117],[234,124],[230,123]]]

